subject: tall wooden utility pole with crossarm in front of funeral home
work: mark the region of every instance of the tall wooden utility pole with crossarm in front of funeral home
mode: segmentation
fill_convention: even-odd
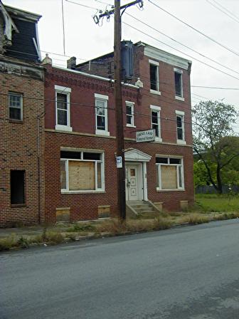
[[[125,203],[125,167],[124,167],[124,118],[122,108],[122,83],[121,83],[121,9],[124,11],[129,6],[139,4],[143,6],[142,0],[135,0],[129,4],[120,6],[120,0],[115,0],[115,7],[110,11],[95,15],[93,17],[95,23],[99,23],[104,16],[109,18],[111,14],[115,14],[115,43],[114,43],[114,79],[115,79],[115,123],[116,123],[116,143],[117,143],[117,159],[122,163],[117,168],[117,185],[118,185],[118,210],[121,221],[126,219],[126,203]]]

